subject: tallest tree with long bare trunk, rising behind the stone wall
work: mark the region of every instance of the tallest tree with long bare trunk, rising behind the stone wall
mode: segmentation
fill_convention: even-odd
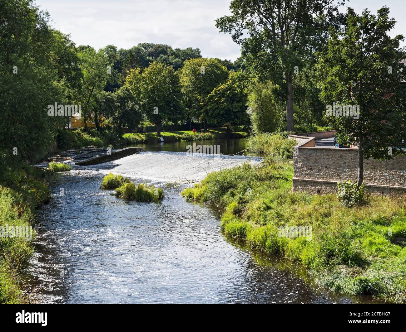
[[[287,131],[294,131],[295,70],[324,45],[328,26],[338,28],[337,5],[332,0],[233,0],[230,9],[232,15],[217,19],[216,26],[242,46],[254,76],[284,87]]]

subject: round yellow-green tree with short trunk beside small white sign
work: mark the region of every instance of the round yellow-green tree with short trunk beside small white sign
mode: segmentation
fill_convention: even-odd
[[[156,125],[156,134],[161,135],[163,121],[178,121],[184,116],[181,104],[179,76],[172,66],[153,62],[143,73],[132,70],[125,84],[139,98],[143,113]]]

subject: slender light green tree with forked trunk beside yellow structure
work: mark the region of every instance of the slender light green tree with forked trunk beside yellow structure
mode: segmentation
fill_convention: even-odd
[[[79,53],[80,67],[82,69],[82,87],[80,103],[82,105],[84,129],[87,131],[87,118],[93,111],[97,130],[99,126],[99,114],[95,103],[96,94],[104,89],[107,82],[108,64],[103,49],[99,52],[93,47],[84,47]]]

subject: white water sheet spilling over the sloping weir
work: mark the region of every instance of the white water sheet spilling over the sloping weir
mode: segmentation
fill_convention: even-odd
[[[87,166],[102,173],[113,172],[130,178],[163,182],[196,182],[212,171],[232,168],[242,163],[257,164],[260,157],[226,154],[193,154],[186,152],[139,152],[100,165]]]

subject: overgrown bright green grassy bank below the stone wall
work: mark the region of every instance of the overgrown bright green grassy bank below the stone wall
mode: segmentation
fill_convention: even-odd
[[[225,208],[226,236],[302,264],[322,287],[406,302],[406,247],[393,243],[406,237],[404,197],[345,208],[335,195],[292,192],[292,175],[290,161],[268,158],[261,167],[209,173],[182,195]],[[289,227],[311,227],[311,239]]]

